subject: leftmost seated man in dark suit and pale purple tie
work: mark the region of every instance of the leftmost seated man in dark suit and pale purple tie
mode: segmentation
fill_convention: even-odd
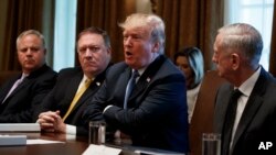
[[[30,123],[33,109],[53,88],[56,73],[45,64],[44,36],[29,30],[17,38],[22,74],[0,88],[0,123]]]

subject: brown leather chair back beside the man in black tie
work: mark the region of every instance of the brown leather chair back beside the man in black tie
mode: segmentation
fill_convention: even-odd
[[[219,87],[225,79],[216,70],[205,73],[189,128],[191,155],[201,155],[202,133],[213,132],[214,100]]]

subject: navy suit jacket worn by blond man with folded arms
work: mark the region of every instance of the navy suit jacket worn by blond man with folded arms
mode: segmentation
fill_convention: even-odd
[[[177,152],[188,150],[185,81],[180,70],[159,56],[140,76],[124,110],[124,98],[131,68],[114,65],[106,81],[87,107],[84,119],[105,119],[109,128],[131,136],[134,145]],[[112,108],[102,114],[108,106]]]

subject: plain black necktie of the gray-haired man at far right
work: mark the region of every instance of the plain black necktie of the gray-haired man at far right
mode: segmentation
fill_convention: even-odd
[[[235,89],[232,91],[226,115],[225,115],[225,121],[224,121],[224,126],[223,126],[223,135],[222,135],[222,148],[221,151],[223,152],[222,155],[229,155],[230,152],[230,143],[231,143],[231,137],[232,137],[232,131],[233,131],[233,125],[235,122],[235,115],[236,115],[236,107],[237,107],[237,99],[241,97],[242,92],[238,89]]]

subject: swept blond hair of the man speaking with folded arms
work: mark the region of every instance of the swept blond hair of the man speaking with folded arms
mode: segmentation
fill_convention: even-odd
[[[119,26],[124,30],[127,27],[145,27],[151,40],[160,43],[161,46],[158,53],[163,54],[166,40],[164,23],[158,15],[134,13],[127,16],[124,23],[119,23]]]

